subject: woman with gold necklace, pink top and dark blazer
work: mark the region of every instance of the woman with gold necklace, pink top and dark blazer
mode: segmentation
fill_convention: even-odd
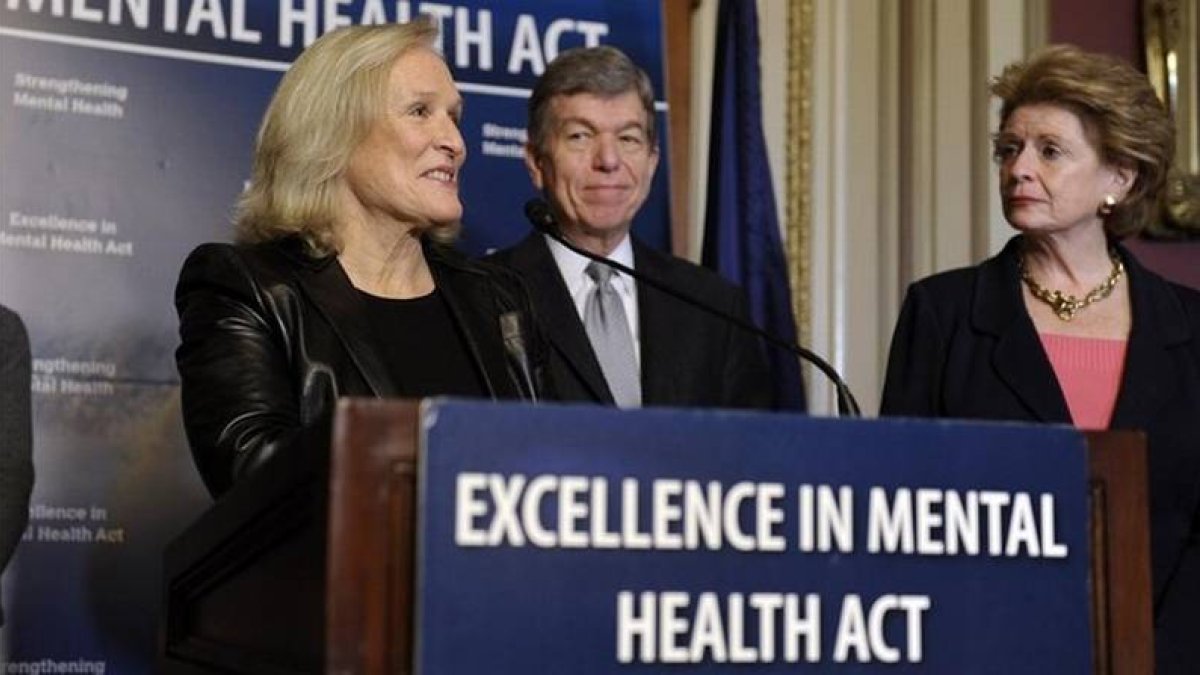
[[[914,283],[881,413],[1146,432],[1159,673],[1200,664],[1200,292],[1120,245],[1154,217],[1174,132],[1127,64],[1050,47],[991,83],[1004,217],[982,264]]]

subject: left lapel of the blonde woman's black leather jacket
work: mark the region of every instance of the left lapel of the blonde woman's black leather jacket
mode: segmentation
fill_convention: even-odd
[[[376,396],[395,396],[396,387],[374,347],[366,305],[337,258],[313,259],[294,250],[288,255],[299,263],[296,280],[300,288],[329,322],[371,392]]]

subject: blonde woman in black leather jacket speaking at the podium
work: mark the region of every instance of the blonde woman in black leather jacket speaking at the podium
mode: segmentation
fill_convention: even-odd
[[[338,396],[536,396],[523,287],[448,244],[467,149],[436,37],[422,19],[308,47],[263,119],[238,244],[184,263],[184,423],[214,495]]]

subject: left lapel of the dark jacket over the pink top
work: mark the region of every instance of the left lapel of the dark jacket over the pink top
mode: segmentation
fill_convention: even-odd
[[[1009,240],[998,256],[979,265],[972,305],[972,325],[996,336],[991,365],[1036,419],[1070,423],[1067,400],[1033,321],[1025,310],[1016,268],[1020,238]]]

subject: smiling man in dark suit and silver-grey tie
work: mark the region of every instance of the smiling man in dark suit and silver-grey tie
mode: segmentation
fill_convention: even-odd
[[[742,318],[740,289],[630,235],[658,167],[654,92],[612,47],[560,54],[529,98],[526,167],[575,245]],[[494,259],[520,271],[551,344],[557,396],[622,407],[770,407],[757,338],[530,234]]]

